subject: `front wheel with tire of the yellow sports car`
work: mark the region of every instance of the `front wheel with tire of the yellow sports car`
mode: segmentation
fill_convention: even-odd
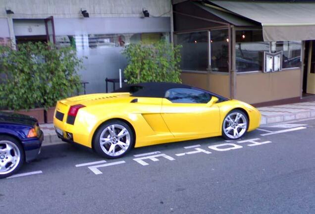
[[[248,117],[244,111],[232,110],[223,120],[222,137],[226,140],[237,140],[244,137],[247,133],[248,124]]]

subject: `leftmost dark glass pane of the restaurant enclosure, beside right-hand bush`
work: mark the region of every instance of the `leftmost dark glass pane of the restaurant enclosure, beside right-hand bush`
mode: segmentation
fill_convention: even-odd
[[[181,45],[181,69],[202,70],[208,68],[208,31],[176,35],[176,44]]]

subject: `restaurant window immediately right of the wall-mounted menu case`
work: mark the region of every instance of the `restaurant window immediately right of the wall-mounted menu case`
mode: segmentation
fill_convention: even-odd
[[[272,42],[271,51],[282,51],[282,68],[301,66],[301,41]]]

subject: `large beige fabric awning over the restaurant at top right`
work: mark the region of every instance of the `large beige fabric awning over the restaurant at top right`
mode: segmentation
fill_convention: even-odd
[[[260,22],[264,41],[315,40],[315,2],[210,1]]]

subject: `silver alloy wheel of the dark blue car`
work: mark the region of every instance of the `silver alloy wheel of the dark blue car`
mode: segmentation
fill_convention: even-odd
[[[11,141],[0,141],[0,175],[12,172],[19,164],[21,153]]]

